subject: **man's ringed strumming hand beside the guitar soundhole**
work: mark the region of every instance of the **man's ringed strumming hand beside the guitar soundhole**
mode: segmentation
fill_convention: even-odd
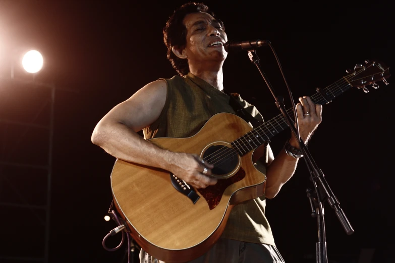
[[[203,162],[193,154],[173,153],[170,171],[186,183],[196,188],[206,188],[217,183],[217,179],[210,177],[212,164]]]

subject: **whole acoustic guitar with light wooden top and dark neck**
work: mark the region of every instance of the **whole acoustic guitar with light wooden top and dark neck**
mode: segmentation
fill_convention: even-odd
[[[327,104],[357,87],[388,85],[389,68],[379,62],[357,64],[348,75],[310,96]],[[288,113],[293,117],[293,109]],[[252,162],[253,151],[288,128],[280,114],[252,129],[237,115],[213,115],[189,138],[154,138],[150,142],[175,152],[197,154],[214,165],[215,185],[194,189],[171,172],[117,159],[111,190],[117,211],[136,242],[166,262],[185,262],[205,253],[221,236],[231,210],[265,191],[265,176]]]

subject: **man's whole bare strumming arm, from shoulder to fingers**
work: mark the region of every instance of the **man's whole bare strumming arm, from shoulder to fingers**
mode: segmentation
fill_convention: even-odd
[[[165,101],[165,81],[147,84],[128,100],[112,108],[97,123],[91,137],[92,143],[118,159],[171,171],[198,188],[215,184],[215,179],[201,173],[205,166],[196,156],[161,149],[137,134],[137,131],[158,119]],[[212,168],[212,165],[206,166]]]

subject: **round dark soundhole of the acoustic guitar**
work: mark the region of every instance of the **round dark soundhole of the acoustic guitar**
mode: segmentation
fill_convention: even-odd
[[[238,153],[227,146],[213,145],[206,149],[203,159],[213,164],[211,175],[227,175],[235,170],[239,164]],[[220,176],[219,176],[220,177]]]

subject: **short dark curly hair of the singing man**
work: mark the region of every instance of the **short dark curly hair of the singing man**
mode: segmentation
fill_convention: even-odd
[[[172,48],[185,48],[187,44],[187,28],[184,25],[184,18],[192,13],[203,12],[215,18],[214,13],[202,3],[189,2],[176,9],[173,15],[167,20],[163,28],[163,41],[167,47],[167,59],[172,62],[173,68],[180,76],[189,73],[188,59],[179,58],[173,53]],[[223,27],[223,23],[218,20]]]

